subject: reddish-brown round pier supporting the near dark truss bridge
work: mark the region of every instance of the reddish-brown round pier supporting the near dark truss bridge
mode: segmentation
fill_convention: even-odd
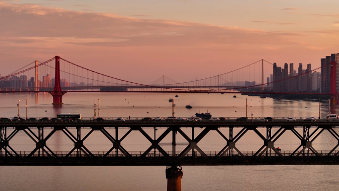
[[[180,165],[166,167],[167,191],[181,191],[182,168]]]

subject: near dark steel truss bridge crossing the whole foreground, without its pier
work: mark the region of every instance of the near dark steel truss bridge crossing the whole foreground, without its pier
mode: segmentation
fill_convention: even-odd
[[[238,122],[235,120],[202,122],[144,122],[128,120],[115,122],[110,120],[81,122],[0,122],[0,165],[98,165],[98,166],[155,166],[155,165],[304,165],[304,164],[339,164],[339,134],[335,128],[338,122]],[[156,136],[158,128],[164,132]],[[195,129],[201,132],[195,134]],[[224,128],[224,129],[223,129]],[[238,128],[237,133],[233,130]],[[261,133],[259,128],[265,128]],[[302,134],[297,129],[302,128]],[[84,134],[84,129],[86,133]],[[114,129],[112,135],[109,129]],[[124,130],[121,133],[121,130]],[[128,129],[128,130],[127,130]],[[183,130],[185,129],[185,130]],[[191,133],[185,133],[190,129]],[[223,129],[223,130],[222,130]],[[222,131],[228,131],[228,134]],[[273,130],[274,129],[274,130]],[[45,131],[48,130],[48,133]],[[74,131],[76,130],[76,133]],[[89,132],[88,132],[89,130]],[[127,132],[125,132],[127,130]],[[273,131],[272,131],[273,130]],[[299,129],[300,130],[300,129]],[[11,140],[23,131],[25,135],[36,144],[31,151],[18,151],[11,146]],[[52,150],[47,140],[56,133],[63,132],[74,144],[70,151]],[[71,132],[73,131],[73,133]],[[103,137],[112,142],[113,146],[106,151],[90,151],[84,141],[94,131],[100,131]],[[132,132],[139,131],[140,138],[146,138],[151,146],[142,152],[131,152],[124,148],[124,139]],[[148,131],[148,133],[146,132]],[[154,137],[149,135],[154,132]],[[216,131],[225,139],[225,145],[218,151],[204,151],[198,143],[211,131]],[[253,131],[263,141],[257,151],[240,151],[237,142],[244,134]],[[275,131],[275,132],[274,132]],[[287,131],[292,132],[300,143],[295,150],[281,151],[275,142]],[[337,145],[332,150],[316,150],[313,141],[324,131],[328,131],[335,139]],[[178,142],[177,134],[184,138]],[[227,136],[226,136],[227,135]],[[22,134],[21,134],[22,136]],[[171,142],[164,142],[170,136]],[[287,143],[290,144],[290,143]],[[163,145],[170,146],[166,151]],[[178,146],[184,146],[178,151]],[[181,171],[182,172],[182,171]]]

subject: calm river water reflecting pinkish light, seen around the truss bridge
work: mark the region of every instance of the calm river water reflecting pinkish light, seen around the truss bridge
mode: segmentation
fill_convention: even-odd
[[[79,113],[83,119],[94,116],[94,100],[98,104],[100,99],[100,116],[106,119],[129,116],[132,119],[142,117],[168,117],[172,113],[174,99],[176,117],[192,117],[195,113],[210,112],[212,117],[251,117],[251,99],[253,100],[253,119],[259,117],[297,119],[305,117],[319,117],[319,102],[273,100],[271,98],[249,97],[236,94],[192,94],[192,93],[66,93],[62,107],[52,106],[50,94],[0,94],[0,116],[15,117],[18,113],[16,104],[20,100],[20,116],[26,118],[25,99],[28,102],[28,117],[56,117],[59,113]],[[186,109],[191,105],[192,109]],[[321,103],[321,118],[329,113],[329,105]],[[331,113],[337,109],[332,109]],[[97,105],[97,117],[98,105]],[[36,129],[34,129],[36,130]],[[114,134],[113,129],[108,129]],[[145,129],[152,134],[153,129]],[[164,132],[164,128],[157,131],[157,136]],[[239,132],[234,129],[234,135]],[[302,134],[302,128],[297,129]],[[312,129],[313,131],[314,129]],[[12,131],[8,129],[7,135]],[[84,129],[82,136],[89,129]],[[127,131],[127,129],[126,129]],[[190,135],[190,129],[183,129]],[[196,135],[202,131],[196,128]],[[221,131],[228,136],[228,129]],[[259,131],[266,136],[266,129]],[[277,128],[272,130],[272,134]],[[36,131],[35,131],[36,132]],[[46,129],[45,136],[49,130]],[[75,131],[72,131],[73,133]],[[120,132],[120,130],[119,130]],[[123,130],[121,130],[122,136]],[[337,130],[338,132],[338,130]],[[165,142],[171,142],[166,137]],[[178,135],[177,142],[183,142]],[[323,132],[313,142],[316,150],[331,150],[338,141],[329,133]],[[20,131],[9,144],[16,151],[31,151],[35,144]],[[121,142],[127,151],[145,151],[151,144],[140,132],[132,131]],[[198,146],[203,151],[218,151],[226,144],[215,131],[209,132]],[[263,141],[248,131],[237,143],[241,151],[254,151],[261,147]],[[276,142],[283,150],[294,150],[300,144],[299,139],[286,131]],[[54,151],[69,151],[73,143],[61,131],[57,131],[47,145]],[[101,133],[93,132],[84,145],[90,151],[107,151],[112,143]],[[166,151],[171,147],[164,146]],[[178,146],[177,151],[184,147]],[[339,188],[339,166],[183,166],[183,191],[335,191]],[[0,166],[0,190],[3,191],[166,191],[167,180],[165,166]]]

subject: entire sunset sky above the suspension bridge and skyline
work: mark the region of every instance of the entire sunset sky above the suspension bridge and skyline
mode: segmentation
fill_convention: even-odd
[[[201,79],[339,53],[338,0],[0,0],[0,74],[58,55],[120,79]],[[294,64],[296,65],[296,64]],[[265,79],[273,67],[265,65]]]

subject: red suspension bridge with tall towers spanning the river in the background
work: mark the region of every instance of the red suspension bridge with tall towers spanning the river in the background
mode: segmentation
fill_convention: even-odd
[[[336,62],[330,63],[330,93],[273,92],[273,84],[303,76],[321,67],[265,83],[264,63],[273,65],[265,60],[260,60],[208,78],[181,83],[165,84],[164,82],[163,84],[146,85],[105,75],[56,56],[43,63],[32,62],[0,77],[0,93],[47,92],[53,96],[53,104],[62,104],[62,96],[67,92],[326,94],[331,95],[332,104],[337,103],[336,100],[339,96],[336,88],[338,86]]]

